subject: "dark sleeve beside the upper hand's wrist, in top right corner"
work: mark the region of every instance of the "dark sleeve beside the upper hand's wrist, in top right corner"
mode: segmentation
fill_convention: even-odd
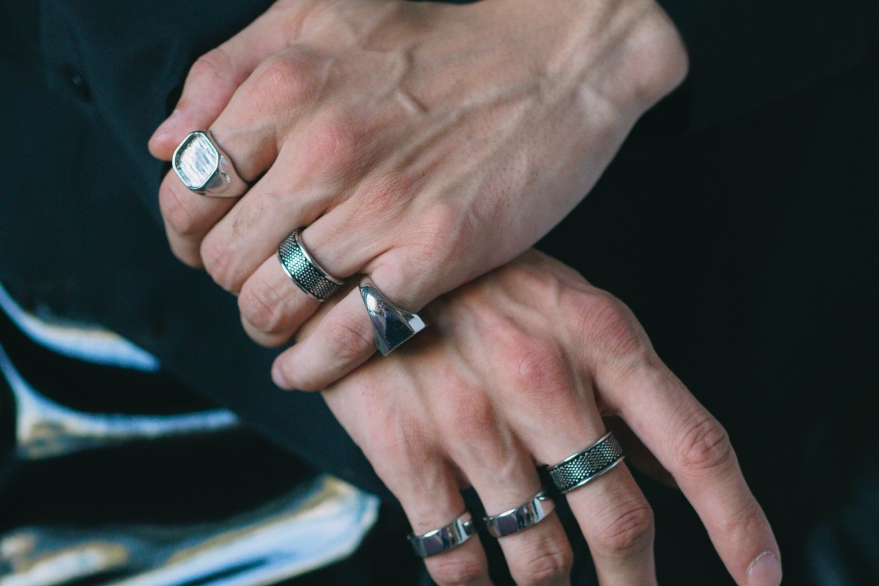
[[[658,0],[690,56],[690,128],[853,70],[875,50],[875,0]]]

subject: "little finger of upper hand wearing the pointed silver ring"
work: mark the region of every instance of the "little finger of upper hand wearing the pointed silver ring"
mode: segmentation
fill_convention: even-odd
[[[272,380],[283,389],[317,391],[345,376],[375,352],[375,334],[360,290],[352,289],[313,333],[275,359]]]

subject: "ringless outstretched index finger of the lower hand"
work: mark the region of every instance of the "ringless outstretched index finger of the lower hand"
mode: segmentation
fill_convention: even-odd
[[[739,584],[781,582],[781,556],[766,515],[738,466],[729,437],[658,358],[617,370],[621,415],[672,473]]]

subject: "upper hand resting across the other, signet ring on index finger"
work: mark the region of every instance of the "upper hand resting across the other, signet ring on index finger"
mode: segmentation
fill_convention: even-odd
[[[229,201],[170,173],[171,248],[240,294],[265,345],[317,307],[275,256],[298,227],[329,273],[418,311],[563,218],[686,67],[653,0],[281,0],[195,63],[150,141],[167,160],[210,127],[253,183]],[[360,305],[355,291],[281,355],[279,384],[322,388],[367,360]]]

